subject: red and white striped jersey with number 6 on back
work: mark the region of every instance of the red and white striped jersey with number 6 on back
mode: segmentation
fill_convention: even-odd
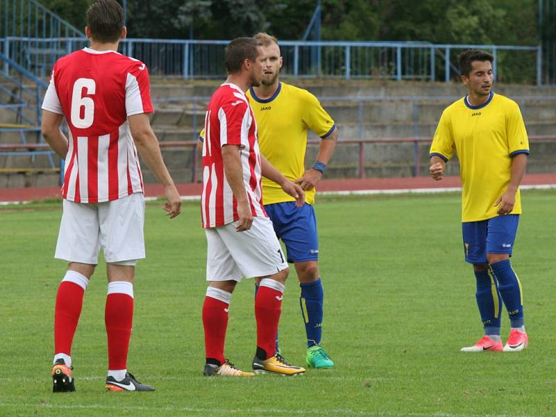
[[[63,198],[99,203],[143,192],[127,117],[153,112],[144,63],[89,48],[60,58],[42,109],[64,115],[70,129]]]

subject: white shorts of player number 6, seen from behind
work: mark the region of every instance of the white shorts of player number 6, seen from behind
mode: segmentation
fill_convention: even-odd
[[[111,202],[63,201],[56,259],[97,265],[102,248],[108,263],[145,258],[145,197],[133,193]]]

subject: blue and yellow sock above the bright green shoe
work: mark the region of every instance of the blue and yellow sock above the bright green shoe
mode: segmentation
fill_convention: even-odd
[[[322,336],[322,304],[325,293],[322,291],[320,278],[313,282],[302,283],[300,306],[305,332],[307,334],[307,347],[320,345]]]

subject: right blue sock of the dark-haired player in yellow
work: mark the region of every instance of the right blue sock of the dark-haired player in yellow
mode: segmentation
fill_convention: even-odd
[[[498,280],[498,290],[509,314],[512,329],[523,328],[523,293],[521,282],[509,259],[491,264],[491,271]]]

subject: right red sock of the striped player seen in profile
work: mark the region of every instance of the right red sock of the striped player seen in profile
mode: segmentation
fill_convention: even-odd
[[[281,291],[280,291],[281,290]],[[268,359],[276,353],[276,334],[280,321],[284,285],[274,279],[262,279],[255,297],[256,345]]]

